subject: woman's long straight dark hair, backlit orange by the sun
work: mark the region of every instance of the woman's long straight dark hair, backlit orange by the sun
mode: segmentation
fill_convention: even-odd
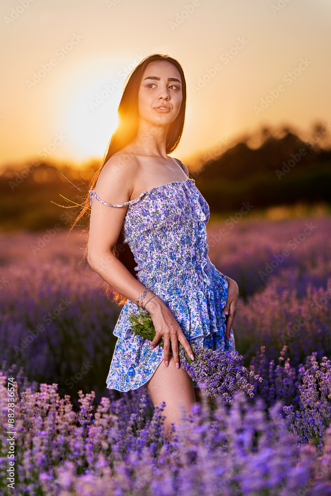
[[[114,155],[114,153],[117,153],[118,151],[122,150],[125,146],[129,145],[135,139],[137,135],[138,122],[139,122],[138,91],[139,91],[141,78],[147,65],[151,62],[156,62],[156,61],[166,61],[172,63],[178,69],[182,79],[182,96],[183,96],[182,103],[177,118],[169,126],[167,141],[166,141],[166,153],[169,154],[173,152],[175,148],[177,148],[180,139],[182,137],[184,121],[185,121],[186,81],[185,81],[184,72],[181,64],[176,59],[173,59],[168,55],[161,55],[161,54],[149,55],[148,57],[143,59],[132,70],[132,72],[128,76],[129,79],[127,80],[127,83],[123,90],[123,95],[118,108],[119,124],[108,143],[107,150],[104,155],[100,168],[96,171],[93,178],[90,180],[89,189],[94,188],[103,166],[110,159],[110,157]],[[83,202],[81,205],[82,205],[82,209],[79,215],[76,217],[74,223],[72,224],[70,231],[77,224],[79,219],[81,219],[84,216],[84,214],[90,210],[89,194],[87,194],[85,202]],[[67,208],[72,208],[72,207],[67,207]],[[124,241],[124,233],[123,233],[123,225],[122,225],[117,243],[113,248],[113,254],[116,257],[118,257],[119,260],[126,266],[126,268],[131,272],[132,276],[135,279],[138,279],[134,271],[136,262],[134,260],[133,253],[129,245],[128,244],[124,245],[123,241]],[[83,258],[87,258],[87,251],[88,251],[88,243],[86,244]],[[116,290],[114,290],[114,288],[112,288],[108,284],[106,290],[107,296],[109,296],[110,293],[113,294],[113,301],[118,305],[123,305],[128,300],[126,297],[118,293]]]

